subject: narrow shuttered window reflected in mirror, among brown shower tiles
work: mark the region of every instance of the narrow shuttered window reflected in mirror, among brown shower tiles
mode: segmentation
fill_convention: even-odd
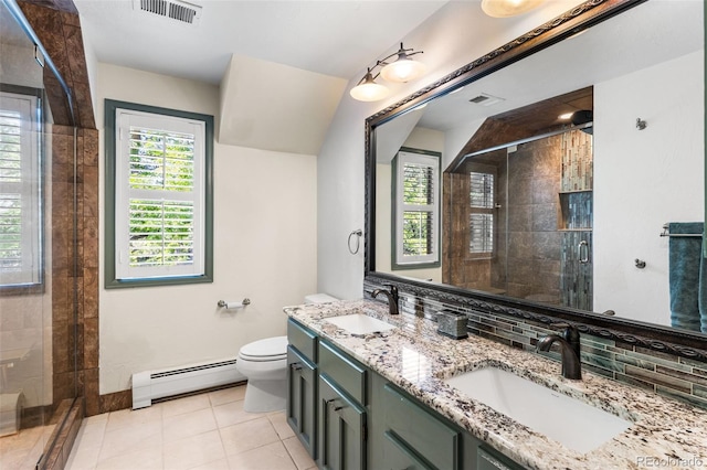
[[[469,246],[472,257],[494,253],[494,173],[469,173]]]

